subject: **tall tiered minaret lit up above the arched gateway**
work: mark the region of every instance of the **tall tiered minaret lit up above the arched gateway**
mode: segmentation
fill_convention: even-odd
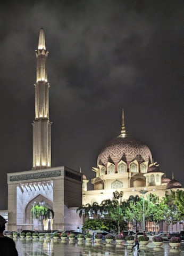
[[[41,28],[38,39],[37,81],[35,84],[35,121],[33,125],[33,167],[51,167],[51,125],[49,121],[49,83],[47,82],[47,56],[45,33]]]

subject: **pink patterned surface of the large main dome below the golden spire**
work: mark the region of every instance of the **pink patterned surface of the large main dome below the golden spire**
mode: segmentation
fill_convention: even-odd
[[[114,162],[119,162],[124,156],[127,160],[132,161],[137,156],[140,156],[144,161],[152,161],[152,154],[149,148],[141,141],[130,136],[117,137],[108,142],[105,148],[98,155],[97,164],[102,162],[106,164],[108,157]]]

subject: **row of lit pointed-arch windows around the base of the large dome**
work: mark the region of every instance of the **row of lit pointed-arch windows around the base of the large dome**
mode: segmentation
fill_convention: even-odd
[[[144,163],[140,164],[140,172],[146,173],[147,164],[148,164],[147,162],[144,162]],[[129,164],[129,170],[130,170],[130,172],[139,172],[139,165],[138,165],[137,160],[135,160],[135,161],[133,161]],[[121,161],[118,164],[118,170],[117,171],[118,171],[118,173],[127,172],[127,163]],[[100,168],[100,175],[111,174],[111,173],[115,173],[115,165],[112,164],[112,163],[107,164],[107,173],[106,173],[105,166],[102,166]]]

